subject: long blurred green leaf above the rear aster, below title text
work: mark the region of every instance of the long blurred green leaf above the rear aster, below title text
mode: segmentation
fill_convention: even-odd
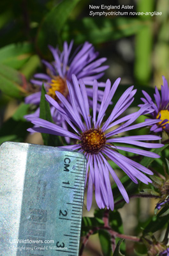
[[[76,44],[82,44],[85,40],[92,44],[100,44],[134,35],[147,25],[147,22],[133,18],[85,17],[78,22],[69,20],[62,31],[62,40],[70,41],[71,38],[75,38]]]

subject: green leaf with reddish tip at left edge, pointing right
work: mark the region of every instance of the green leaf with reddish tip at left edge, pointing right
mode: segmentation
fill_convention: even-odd
[[[21,98],[26,95],[25,77],[17,70],[0,64],[0,90],[10,97]]]

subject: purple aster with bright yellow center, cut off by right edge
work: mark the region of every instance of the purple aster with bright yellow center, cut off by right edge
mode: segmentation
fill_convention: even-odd
[[[151,127],[151,131],[161,132],[165,130],[169,132],[169,88],[168,83],[163,76],[163,85],[161,85],[161,96],[159,94],[158,88],[155,88],[154,99],[155,103],[145,91],[142,91],[145,98],[141,98],[144,104],[139,105],[140,107],[144,106],[147,103],[151,103],[151,118],[159,119],[158,124],[154,124]],[[147,111],[149,113],[149,111]]]

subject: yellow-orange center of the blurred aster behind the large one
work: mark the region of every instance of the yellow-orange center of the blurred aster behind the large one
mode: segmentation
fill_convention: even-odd
[[[54,100],[58,101],[55,91],[62,93],[64,97],[68,95],[68,86],[66,80],[60,76],[52,76],[51,83],[48,83],[49,88],[47,94],[50,95]]]

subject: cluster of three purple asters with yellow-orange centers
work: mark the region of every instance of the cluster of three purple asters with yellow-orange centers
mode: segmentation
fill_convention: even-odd
[[[158,154],[142,148],[162,147],[163,144],[154,143],[161,137],[156,134],[123,136],[122,132],[147,126],[151,126],[151,131],[154,132],[163,131],[163,129],[168,131],[169,88],[163,77],[162,95],[160,97],[157,88],[154,95],[156,104],[147,93],[143,92],[146,99],[142,99],[144,104],[140,109],[135,113],[124,115],[124,111],[134,100],[136,90],[133,86],[119,97],[115,105],[112,105],[121,79],[118,78],[113,85],[109,79],[107,83],[99,83],[97,79],[102,77],[103,71],[108,68],[108,66],[101,66],[106,59],[96,60],[98,52],[95,52],[94,47],[87,42],[70,58],[72,46],[72,42],[70,46],[65,42],[62,52],[50,47],[54,62],[43,61],[47,67],[47,74],[36,74],[34,76],[36,79],[32,80],[32,83],[37,86],[45,85],[46,99],[50,104],[55,123],[39,118],[38,110],[36,114],[27,116],[27,120],[35,125],[28,131],[64,136],[71,143],[62,148],[83,152],[87,158],[85,179],[88,184],[87,209],[91,209],[94,188],[98,207],[101,209],[107,206],[108,209],[113,210],[114,196],[110,175],[126,202],[129,202],[129,197],[108,159],[114,161],[133,182],[138,183],[138,180],[145,184],[152,182],[145,175],[152,175],[151,170],[124,156],[122,152],[159,157]],[[99,86],[104,87],[104,90],[99,90]],[[40,94],[41,92],[37,92],[29,95],[26,102],[40,104]],[[110,104],[114,108],[107,118],[107,109]],[[149,113],[151,118],[135,124],[136,119],[145,113]]]

